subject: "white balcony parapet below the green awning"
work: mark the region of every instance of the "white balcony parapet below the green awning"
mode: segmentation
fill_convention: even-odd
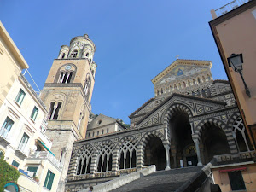
[[[61,162],[53,154],[49,153],[49,151],[36,151],[34,154],[29,155],[27,159],[49,160],[57,168],[62,169],[63,167]]]

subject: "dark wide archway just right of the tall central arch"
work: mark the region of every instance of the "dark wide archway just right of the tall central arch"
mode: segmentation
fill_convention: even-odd
[[[207,164],[214,155],[230,154],[230,147],[224,131],[218,125],[205,126],[201,133],[201,142],[203,144],[203,159]]]

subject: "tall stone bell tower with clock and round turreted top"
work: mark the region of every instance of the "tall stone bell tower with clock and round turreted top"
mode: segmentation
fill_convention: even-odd
[[[49,111],[46,135],[53,143],[51,151],[63,164],[58,191],[64,191],[73,142],[85,138],[97,67],[95,50],[87,34],[61,46],[41,90]]]

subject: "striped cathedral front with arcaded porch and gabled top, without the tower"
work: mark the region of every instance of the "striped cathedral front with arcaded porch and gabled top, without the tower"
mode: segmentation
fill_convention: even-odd
[[[158,74],[154,98],[129,116],[131,127],[73,143],[66,191],[136,172],[241,159],[251,150],[230,84],[213,80],[211,61],[177,60]]]

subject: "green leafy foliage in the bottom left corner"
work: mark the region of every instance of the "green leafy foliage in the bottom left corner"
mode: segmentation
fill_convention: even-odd
[[[11,181],[17,183],[20,177],[20,172],[14,167],[9,166],[9,164],[3,160],[3,155],[0,158],[0,191],[3,191],[3,186]]]

